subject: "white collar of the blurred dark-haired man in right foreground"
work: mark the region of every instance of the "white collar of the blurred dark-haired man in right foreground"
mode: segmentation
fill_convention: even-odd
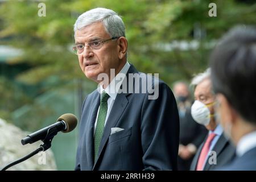
[[[244,135],[237,143],[237,155],[242,156],[245,152],[256,147],[256,131]]]

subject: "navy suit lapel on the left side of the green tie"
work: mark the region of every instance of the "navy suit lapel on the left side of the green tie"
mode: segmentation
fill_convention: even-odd
[[[93,126],[96,121],[98,107],[100,106],[100,93],[97,92],[96,98],[93,98],[96,102],[93,103],[91,112],[88,113],[89,115],[89,123],[87,126],[86,131],[86,155],[87,155],[87,161],[90,166],[90,168],[93,168],[93,158],[94,158],[94,140],[93,140]]]

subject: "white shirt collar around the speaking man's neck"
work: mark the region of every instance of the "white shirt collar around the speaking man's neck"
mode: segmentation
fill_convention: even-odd
[[[117,77],[120,73],[125,74],[128,72],[128,69],[130,68],[130,64],[126,61],[125,65],[123,66],[123,68],[121,69],[121,71],[115,76]],[[124,80],[124,79],[123,79]],[[115,80],[115,78],[113,78],[113,80],[110,82],[110,84],[106,87],[106,89],[104,89],[101,85],[100,85],[100,92],[102,93],[103,90],[105,90],[106,93],[109,94],[110,98],[112,98],[113,100],[115,100],[115,97],[117,97],[117,93],[115,92],[116,90],[115,85],[117,85],[119,83],[119,80]],[[111,88],[111,89],[110,89]],[[118,88],[119,89],[119,88]],[[111,91],[111,92],[110,92]]]

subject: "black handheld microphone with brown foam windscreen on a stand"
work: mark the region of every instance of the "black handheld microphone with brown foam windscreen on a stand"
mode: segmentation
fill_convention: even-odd
[[[57,119],[56,123],[44,127],[41,130],[35,131],[30,135],[27,135],[27,137],[21,140],[21,143],[24,145],[27,143],[34,143],[38,140],[44,140],[48,136],[48,134],[57,133],[59,131],[62,131],[63,133],[68,133],[69,131],[75,129],[76,125],[77,118],[75,115],[70,113],[63,114]]]

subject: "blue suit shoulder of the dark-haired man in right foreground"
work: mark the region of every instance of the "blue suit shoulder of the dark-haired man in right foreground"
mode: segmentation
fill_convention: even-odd
[[[218,171],[256,171],[256,147],[224,167],[216,168]]]

